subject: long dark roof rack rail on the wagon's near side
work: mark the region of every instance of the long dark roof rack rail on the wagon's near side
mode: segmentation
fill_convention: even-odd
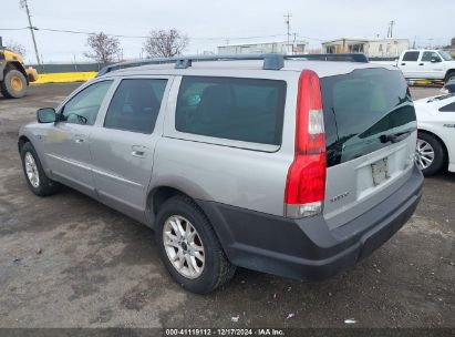
[[[285,67],[285,60],[318,60],[318,61],[348,61],[348,62],[369,62],[364,54],[294,54],[285,55],[279,53],[265,53],[265,54],[218,54],[218,55],[188,55],[188,57],[174,57],[174,58],[157,58],[147,59],[132,62],[120,62],[106,65],[100,70],[96,76],[102,76],[108,72],[134,68],[148,64],[166,64],[175,63],[176,69],[187,69],[192,67],[193,62],[203,61],[240,61],[240,60],[261,60],[263,61],[263,70],[280,70]]]

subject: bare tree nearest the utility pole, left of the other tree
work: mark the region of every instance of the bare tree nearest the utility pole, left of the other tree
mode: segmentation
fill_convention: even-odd
[[[90,34],[86,44],[92,49],[84,55],[101,63],[108,63],[122,51],[117,38],[110,38],[103,32]]]

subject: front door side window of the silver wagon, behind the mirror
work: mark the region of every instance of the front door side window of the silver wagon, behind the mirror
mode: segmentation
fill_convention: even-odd
[[[60,121],[93,125],[112,81],[102,81],[80,91],[62,109]]]

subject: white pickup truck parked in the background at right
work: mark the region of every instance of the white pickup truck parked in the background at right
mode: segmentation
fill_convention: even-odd
[[[443,50],[405,50],[396,67],[409,80],[455,80],[455,60]]]

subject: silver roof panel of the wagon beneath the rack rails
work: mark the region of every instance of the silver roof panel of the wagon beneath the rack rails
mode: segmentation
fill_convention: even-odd
[[[130,76],[130,75],[241,75],[248,72],[249,75],[262,74],[262,76],[286,76],[300,73],[302,70],[312,70],[318,76],[331,76],[338,74],[345,74],[355,69],[369,68],[385,68],[389,70],[396,70],[397,68],[391,65],[382,65],[375,63],[361,62],[340,62],[340,61],[306,61],[306,60],[285,60],[285,67],[280,70],[263,70],[263,61],[260,60],[240,60],[240,61],[204,61],[193,62],[192,67],[186,69],[175,69],[175,64],[148,64],[134,68],[120,69],[108,72],[101,78],[107,76]],[[236,73],[236,71],[238,73]],[[280,75],[279,75],[280,74]]]

